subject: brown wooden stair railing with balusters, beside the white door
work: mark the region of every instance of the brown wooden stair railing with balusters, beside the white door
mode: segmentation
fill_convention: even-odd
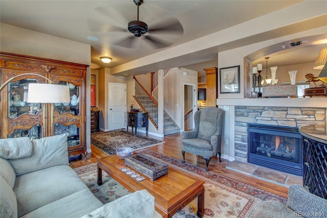
[[[158,102],[147,92],[147,90],[141,85],[135,76],[135,96],[134,100],[141,106],[144,113],[149,113],[148,117],[152,124],[158,129]]]

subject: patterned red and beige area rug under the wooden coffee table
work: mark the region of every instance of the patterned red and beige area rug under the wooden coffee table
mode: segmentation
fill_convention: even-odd
[[[200,167],[189,163],[182,163],[180,160],[159,154],[149,149],[139,151],[139,154],[165,162],[171,167],[205,181],[204,217],[248,217],[249,212],[261,201],[276,200],[282,203],[286,203],[287,201],[287,199],[279,197],[276,194],[255,188],[215,172],[207,172]],[[104,171],[103,178],[106,180],[103,182],[102,186],[98,186],[97,164],[80,167],[75,170],[102,203],[113,201],[129,193],[122,185],[110,178]],[[196,211],[197,200],[194,200],[173,217],[197,217]]]

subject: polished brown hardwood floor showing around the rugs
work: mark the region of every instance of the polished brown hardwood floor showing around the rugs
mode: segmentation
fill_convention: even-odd
[[[144,135],[142,133],[138,133],[139,135]],[[158,140],[165,141],[166,143],[155,145],[150,147],[149,149],[160,152],[161,154],[174,157],[176,159],[182,160],[181,155],[181,140],[182,135],[180,133],[171,134],[165,136],[165,138],[158,138],[151,135],[148,135],[149,138],[154,138]],[[72,168],[77,168],[80,166],[85,166],[92,163],[97,163],[98,158],[104,158],[107,157],[107,155],[99,150],[97,147],[91,145],[91,157],[88,160],[79,160],[71,162],[70,166]],[[192,155],[190,153],[185,152],[185,161],[194,165],[197,165],[201,168],[205,168],[205,160],[202,157],[198,157],[196,155]],[[252,185],[254,187],[275,193],[277,195],[280,195],[282,197],[287,198],[288,188],[277,185],[274,183],[270,183],[264,180],[260,180],[257,178],[253,178],[250,176],[247,176],[243,173],[236,172],[230,169],[226,169],[225,166],[227,165],[228,160],[222,159],[222,162],[219,162],[217,158],[213,158],[209,163],[209,170],[214,171],[217,173],[220,173],[221,175],[224,175],[226,177],[238,180],[240,182]]]

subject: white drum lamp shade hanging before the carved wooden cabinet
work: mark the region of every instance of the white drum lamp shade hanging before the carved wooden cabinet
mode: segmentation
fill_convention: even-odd
[[[30,83],[28,103],[65,103],[69,102],[69,87],[67,85]]]

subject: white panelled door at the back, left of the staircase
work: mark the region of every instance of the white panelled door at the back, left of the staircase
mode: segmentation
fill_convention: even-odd
[[[108,83],[109,130],[126,128],[126,84]]]

